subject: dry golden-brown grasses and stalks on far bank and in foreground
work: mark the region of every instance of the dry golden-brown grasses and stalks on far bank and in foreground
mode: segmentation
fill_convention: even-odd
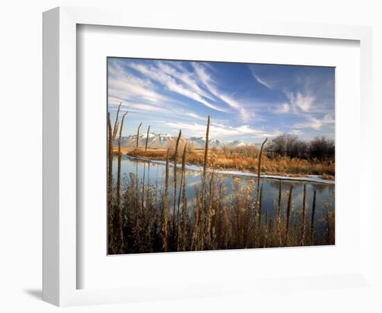
[[[125,113],[126,115],[126,113]],[[118,119],[118,117],[117,117]],[[118,145],[117,177],[112,175],[113,167],[113,131],[108,115],[108,252],[110,254],[221,250],[238,248],[265,248],[284,246],[309,246],[334,244],[334,210],[331,204],[322,204],[324,210],[321,220],[315,218],[316,192],[313,202],[306,203],[306,188],[302,203],[292,200],[293,186],[288,191],[282,189],[279,182],[279,195],[274,199],[272,208],[263,207],[267,196],[263,193],[263,179],[253,179],[247,186],[242,186],[235,178],[227,191],[222,177],[216,175],[215,168],[235,168],[256,170],[258,173],[288,166],[304,168],[294,160],[281,159],[282,166],[270,163],[264,155],[263,146],[256,157],[243,154],[236,161],[229,161],[227,152],[208,149],[210,118],[206,127],[206,147],[204,150],[188,151],[181,144],[181,131],[178,134],[174,150],[150,150],[135,147],[130,154],[150,159],[165,159],[164,184],[155,186],[145,182],[137,175],[138,170],[121,179],[121,155],[126,153]],[[115,127],[119,127],[117,122]],[[119,131],[119,143],[123,119]],[[139,132],[139,129],[138,129]],[[219,154],[221,153],[221,154]],[[302,161],[301,161],[302,162]],[[170,163],[179,163],[181,168]],[[196,196],[188,199],[186,192],[187,175],[185,163],[197,163],[203,166],[201,184],[194,186]],[[299,164],[299,166],[297,166]],[[279,168],[277,168],[279,166]],[[147,168],[149,175],[149,165]],[[306,168],[309,166],[306,165]],[[310,168],[312,165],[310,165]],[[321,169],[322,170],[322,169]],[[323,171],[322,171],[323,172]],[[308,214],[307,206],[312,206]],[[297,207],[299,208],[297,210]],[[323,234],[316,232],[317,223],[325,228]]]

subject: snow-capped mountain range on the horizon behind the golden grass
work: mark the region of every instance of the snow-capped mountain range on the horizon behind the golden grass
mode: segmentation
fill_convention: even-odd
[[[139,136],[139,145],[145,145],[147,134],[140,134]],[[137,142],[137,135],[128,135],[122,136],[121,138],[122,147],[135,147]],[[184,138],[183,138],[184,140]],[[194,148],[200,149],[206,145],[205,137],[190,137],[186,138],[188,143],[191,143]],[[176,137],[171,136],[170,134],[158,134],[158,133],[149,133],[149,142],[148,146],[152,148],[165,148],[169,145],[176,143]],[[117,140],[115,141],[115,145],[117,145]],[[218,139],[209,139],[208,147],[249,147],[254,146],[254,143],[246,143],[245,141],[219,141]]]

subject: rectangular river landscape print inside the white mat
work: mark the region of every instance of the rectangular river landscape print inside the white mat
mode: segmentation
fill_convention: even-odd
[[[335,68],[107,58],[108,254],[335,244]]]

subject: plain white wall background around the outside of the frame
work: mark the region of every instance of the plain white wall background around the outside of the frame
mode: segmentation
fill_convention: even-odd
[[[42,254],[42,11],[55,6],[117,7],[158,15],[185,12],[195,19],[269,19],[360,24],[374,29],[374,160],[381,160],[382,8],[372,0],[117,1],[8,0],[0,6],[0,312],[56,312],[41,301]],[[380,162],[381,163],[381,162]],[[374,164],[374,191],[381,193]],[[376,201],[376,199],[374,199]],[[375,208],[382,209],[381,204]],[[375,225],[381,214],[374,216]],[[374,227],[378,239],[381,230]],[[376,277],[381,241],[374,242]],[[70,307],[66,312],[381,312],[381,290],[285,291],[279,298],[208,298],[160,303]],[[378,305],[377,305],[378,303]],[[277,311],[276,311],[277,310]]]

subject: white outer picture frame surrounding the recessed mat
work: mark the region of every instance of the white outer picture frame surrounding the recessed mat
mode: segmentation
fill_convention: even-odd
[[[43,15],[43,299],[59,306],[119,303],[137,300],[172,299],[194,296],[214,296],[232,292],[256,291],[269,284],[238,280],[230,282],[193,282],[186,287],[158,289],[134,286],[126,288],[77,289],[81,268],[76,262],[78,224],[76,223],[76,26],[123,26],[177,31],[207,31],[210,33],[256,34],[288,36],[290,38],[324,38],[356,40],[360,43],[360,161],[356,172],[360,195],[372,190],[372,30],[365,26],[327,24],[289,24],[242,21],[216,24],[193,19],[161,19],[133,12],[60,7]],[[357,176],[356,176],[357,177]],[[367,183],[366,183],[367,182]],[[365,198],[365,197],[363,197]],[[360,264],[358,271],[325,277],[289,278],[285,286],[304,281],[307,288],[346,287],[352,282],[358,287],[372,284],[372,197],[366,197],[360,214]],[[359,204],[358,204],[359,205]],[[184,255],[183,258],[190,257]],[[328,284],[328,280],[330,280]],[[173,291],[168,293],[167,291]]]

